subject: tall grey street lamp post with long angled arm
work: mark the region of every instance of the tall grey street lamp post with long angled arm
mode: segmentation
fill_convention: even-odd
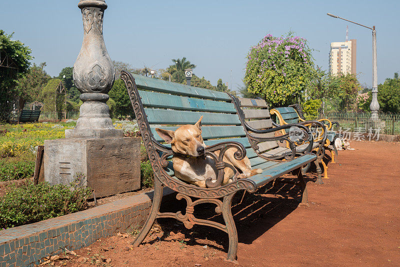
[[[369,109],[371,110],[371,119],[372,120],[377,120],[378,119],[378,110],[379,110],[379,103],[378,103],[378,74],[377,74],[377,63],[376,63],[376,30],[375,26],[372,26],[372,28],[359,24],[357,22],[339,17],[337,15],[333,15],[330,13],[326,13],[328,16],[334,17],[334,18],[340,18],[343,20],[346,20],[348,22],[369,28],[372,30],[372,101],[371,104],[369,105]]]

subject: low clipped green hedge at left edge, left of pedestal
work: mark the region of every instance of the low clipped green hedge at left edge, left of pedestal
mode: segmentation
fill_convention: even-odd
[[[0,159],[0,180],[17,180],[33,176],[33,160],[7,160]]]

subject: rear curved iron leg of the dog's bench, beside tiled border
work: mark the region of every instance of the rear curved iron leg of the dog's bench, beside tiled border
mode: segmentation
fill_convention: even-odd
[[[159,206],[162,199],[162,184],[154,177],[154,195],[151,203],[150,214],[148,214],[147,220],[141,228],[139,234],[133,240],[132,245],[138,246],[146,237],[147,233],[150,231],[151,226],[153,226],[154,220],[157,217]]]

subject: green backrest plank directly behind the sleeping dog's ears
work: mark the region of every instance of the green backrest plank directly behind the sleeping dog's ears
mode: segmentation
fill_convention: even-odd
[[[157,132],[155,131],[156,127],[150,127],[151,132],[154,135],[154,138],[162,142],[162,138],[159,137]],[[160,126],[158,128],[166,129],[166,130],[176,130],[178,126]],[[204,140],[211,138],[226,138],[226,137],[238,137],[238,136],[246,136],[246,133],[243,130],[242,126],[202,126],[201,127],[201,136]]]

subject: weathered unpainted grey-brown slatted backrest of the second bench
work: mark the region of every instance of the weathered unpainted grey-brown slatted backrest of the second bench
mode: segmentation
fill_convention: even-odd
[[[243,111],[244,119],[251,128],[269,129],[272,128],[272,119],[269,114],[268,104],[263,99],[251,99],[238,97],[238,103]],[[273,137],[274,133],[251,133],[254,136]],[[277,141],[261,142],[258,144],[258,151],[263,152],[278,147]]]

